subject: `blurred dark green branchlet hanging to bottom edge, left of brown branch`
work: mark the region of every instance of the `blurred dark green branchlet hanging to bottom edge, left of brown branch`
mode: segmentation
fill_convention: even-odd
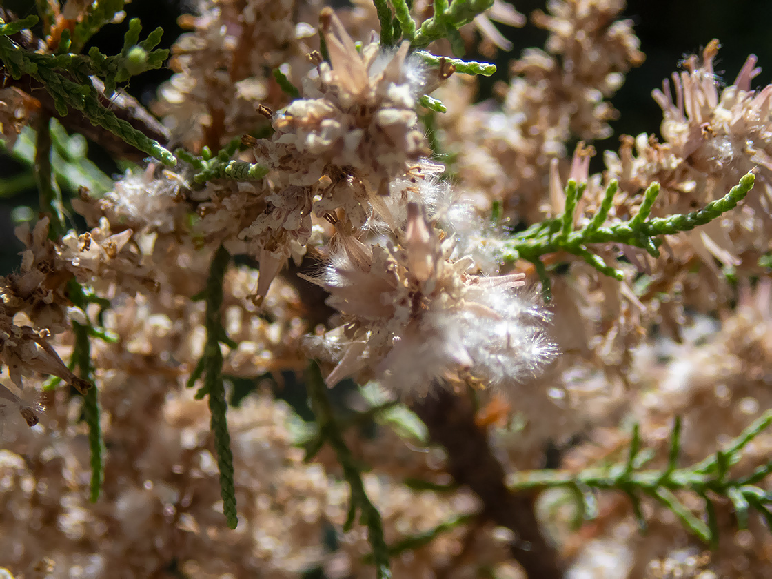
[[[311,407],[317,416],[317,425],[319,425],[317,444],[313,445],[313,448],[309,449],[310,452],[306,453],[306,461],[313,458],[313,455],[320,450],[324,442],[330,444],[337,455],[340,466],[343,468],[344,478],[351,490],[350,506],[344,530],[350,530],[354,525],[358,510],[360,512],[360,523],[367,526],[367,535],[373,547],[372,557],[378,578],[386,579],[386,577],[391,577],[389,548],[384,540],[381,513],[378,512],[378,509],[375,508],[367,497],[360,468],[354,460],[354,455],[351,454],[346,442],[344,442],[343,432],[335,418],[330,400],[327,398],[327,387],[324,385],[322,373],[316,362],[310,364],[306,378]]]

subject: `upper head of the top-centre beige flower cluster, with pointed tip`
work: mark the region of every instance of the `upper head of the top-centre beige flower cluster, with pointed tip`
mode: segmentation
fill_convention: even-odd
[[[304,97],[274,117],[277,145],[311,159],[349,168],[384,195],[388,183],[428,154],[415,113],[425,82],[405,42],[384,52],[376,42],[362,48],[328,12],[323,27],[330,63],[319,63]]]

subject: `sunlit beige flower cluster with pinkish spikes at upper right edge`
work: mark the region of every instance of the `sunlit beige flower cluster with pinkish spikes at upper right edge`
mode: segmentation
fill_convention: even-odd
[[[609,172],[621,188],[634,191],[653,180],[662,185],[658,206],[668,212],[688,212],[726,195],[740,176],[757,171],[757,186],[764,195],[748,199],[757,218],[768,222],[772,183],[772,86],[752,90],[760,73],[756,57],[749,56],[730,86],[719,90],[713,70],[719,43],[710,42],[702,59],[686,59],[686,70],[673,73],[672,84],[652,96],[662,107],[663,142],[646,134],[629,137],[620,153],[605,153]],[[646,185],[642,185],[642,184]],[[656,209],[656,206],[655,206]]]

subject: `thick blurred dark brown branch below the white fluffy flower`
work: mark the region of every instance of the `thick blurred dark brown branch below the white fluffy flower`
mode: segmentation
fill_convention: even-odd
[[[433,442],[448,451],[450,474],[482,500],[482,516],[515,533],[512,557],[531,579],[560,579],[564,566],[557,551],[543,537],[533,496],[512,493],[504,483],[504,469],[475,424],[469,398],[438,387],[435,394],[415,402],[413,411],[425,422]]]

